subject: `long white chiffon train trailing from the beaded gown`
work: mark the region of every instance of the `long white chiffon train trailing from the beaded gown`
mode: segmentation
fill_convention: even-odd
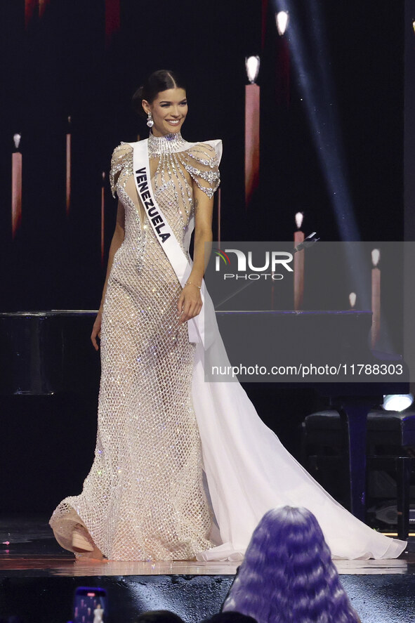
[[[223,544],[199,553],[197,560],[242,560],[263,514],[286,504],[315,514],[334,558],[400,556],[406,542],[372,530],[338,504],[263,424],[239,383],[205,381],[205,366],[225,365],[226,353],[207,293],[204,308],[214,339],[206,350],[197,345],[192,395]]]

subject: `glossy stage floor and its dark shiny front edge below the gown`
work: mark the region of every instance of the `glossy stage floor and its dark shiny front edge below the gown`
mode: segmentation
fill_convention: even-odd
[[[173,610],[200,622],[220,610],[237,569],[237,563],[75,562],[44,517],[0,518],[0,547],[0,622],[12,615],[25,623],[72,621],[77,586],[107,591],[105,623],[133,623],[144,610]],[[362,623],[415,621],[415,539],[398,560],[336,566]]]

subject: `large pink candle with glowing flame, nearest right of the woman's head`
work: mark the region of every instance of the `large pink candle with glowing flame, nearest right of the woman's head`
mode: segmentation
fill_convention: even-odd
[[[249,206],[259,183],[259,56],[245,59],[246,74],[250,84],[245,86],[245,206]]]

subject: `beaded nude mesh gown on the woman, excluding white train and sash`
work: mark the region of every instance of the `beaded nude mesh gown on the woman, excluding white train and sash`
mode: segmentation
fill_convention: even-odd
[[[214,149],[180,134],[167,151],[150,143],[155,197],[187,253],[192,185],[209,197],[218,186]],[[213,546],[192,405],[195,345],[187,324],[178,325],[181,287],[146,223],[131,145],[114,150],[110,179],[124,205],[125,239],[103,308],[95,459],[81,494],[65,498],[50,523],[66,549],[80,525],[108,558],[188,560]]]

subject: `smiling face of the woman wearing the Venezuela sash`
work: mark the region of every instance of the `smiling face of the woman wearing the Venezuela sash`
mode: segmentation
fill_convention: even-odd
[[[180,132],[187,114],[186,91],[178,87],[160,91],[152,103],[143,100],[143,108],[147,114],[151,111],[154,136]]]

